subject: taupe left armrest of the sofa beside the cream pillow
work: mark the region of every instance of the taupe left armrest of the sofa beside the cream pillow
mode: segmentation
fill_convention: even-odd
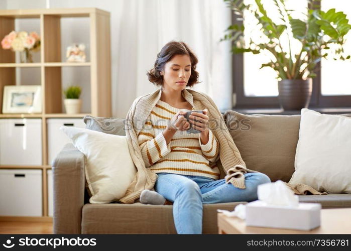
[[[54,233],[81,233],[85,191],[85,157],[67,144],[52,163]]]

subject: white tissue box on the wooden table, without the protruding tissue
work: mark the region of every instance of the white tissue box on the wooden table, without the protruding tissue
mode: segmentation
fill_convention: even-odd
[[[299,203],[297,207],[268,205],[256,200],[246,204],[246,225],[310,230],[320,226],[319,203]]]

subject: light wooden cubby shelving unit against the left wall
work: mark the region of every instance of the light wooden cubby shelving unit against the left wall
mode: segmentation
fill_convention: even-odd
[[[68,63],[61,58],[61,18],[89,18],[90,60],[85,63]],[[42,165],[41,166],[0,166],[0,169],[41,169],[43,172],[42,217],[48,217],[47,170],[48,163],[47,118],[82,118],[111,116],[111,72],[110,72],[110,15],[96,8],[76,9],[36,9],[0,10],[0,38],[15,30],[16,19],[40,20],[40,62],[17,63],[15,53],[0,48],[0,119],[3,118],[41,118],[42,119]],[[27,31],[30,32],[30,31]],[[3,114],[3,92],[5,85],[16,85],[16,68],[39,67],[42,86],[42,113]],[[62,110],[62,67],[90,68],[90,111],[79,114],[66,114]],[[0,139],[1,140],[1,139]],[[7,217],[1,216],[0,220]],[[24,219],[33,217],[8,217]]]

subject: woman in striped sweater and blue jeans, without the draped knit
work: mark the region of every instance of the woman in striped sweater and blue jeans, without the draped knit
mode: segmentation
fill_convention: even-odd
[[[147,168],[157,173],[155,190],[144,190],[142,203],[173,202],[177,233],[201,233],[202,204],[257,199],[257,186],[270,182],[258,172],[245,173],[245,189],[219,179],[213,163],[219,158],[219,141],[209,129],[208,109],[192,112],[187,121],[185,111],[194,110],[184,93],[198,84],[198,60],[183,42],[167,43],[157,55],[155,67],[147,75],[161,86],[161,96],[152,108],[145,127],[138,135]],[[193,119],[193,120],[191,120]],[[193,127],[199,134],[187,134]]]

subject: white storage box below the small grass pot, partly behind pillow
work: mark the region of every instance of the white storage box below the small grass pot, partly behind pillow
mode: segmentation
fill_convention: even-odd
[[[61,126],[85,128],[82,118],[48,118],[48,164],[52,165],[52,161],[56,155],[60,153],[62,148],[71,143],[68,136],[60,130]]]

